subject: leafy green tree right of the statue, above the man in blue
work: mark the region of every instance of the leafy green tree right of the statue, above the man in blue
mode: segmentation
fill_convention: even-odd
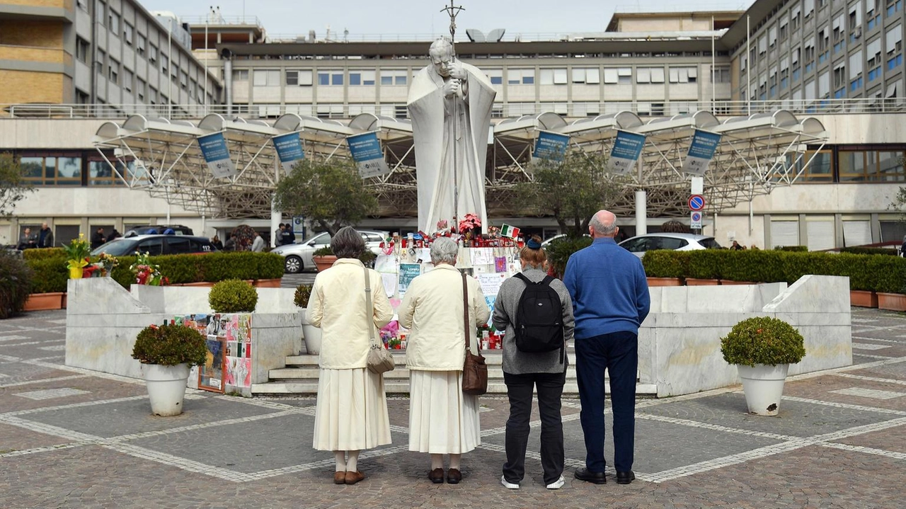
[[[594,213],[622,195],[621,181],[605,176],[606,165],[606,156],[581,150],[568,151],[563,161],[535,159],[529,166],[532,180],[516,186],[516,197],[554,216],[565,233],[581,236]]]

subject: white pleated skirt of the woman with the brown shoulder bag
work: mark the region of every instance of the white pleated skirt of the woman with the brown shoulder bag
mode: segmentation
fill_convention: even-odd
[[[409,373],[409,450],[462,454],[481,445],[478,397],[462,393],[462,371]]]

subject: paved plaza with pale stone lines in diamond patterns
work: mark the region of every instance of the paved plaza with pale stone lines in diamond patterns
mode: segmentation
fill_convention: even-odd
[[[389,403],[393,444],[361,455],[365,480],[333,485],[333,455],[311,447],[314,399],[189,390],[183,415],[154,417],[141,380],[63,366],[65,322],[0,322],[0,508],[906,506],[902,313],[853,308],[856,364],[788,379],[776,418],[747,415],[738,386],[640,399],[631,485],[573,479],[580,407],[564,399],[559,491],[543,484],[537,420],[522,489],[499,484],[506,399],[482,399],[459,485],[432,485],[427,455],[407,450],[404,398]]]

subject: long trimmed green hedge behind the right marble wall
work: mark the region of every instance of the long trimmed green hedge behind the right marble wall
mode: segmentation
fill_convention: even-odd
[[[705,249],[649,251],[641,260],[650,277],[795,283],[805,274],[850,278],[852,290],[906,293],[906,258],[850,253]]]

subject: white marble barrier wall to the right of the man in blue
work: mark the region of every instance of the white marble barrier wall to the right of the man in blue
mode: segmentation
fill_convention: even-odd
[[[773,316],[805,338],[805,359],[791,375],[853,363],[849,278],[806,275],[786,283],[651,288],[651,313],[639,330],[641,383],[658,397],[739,383],[720,353],[720,338],[737,322]]]

